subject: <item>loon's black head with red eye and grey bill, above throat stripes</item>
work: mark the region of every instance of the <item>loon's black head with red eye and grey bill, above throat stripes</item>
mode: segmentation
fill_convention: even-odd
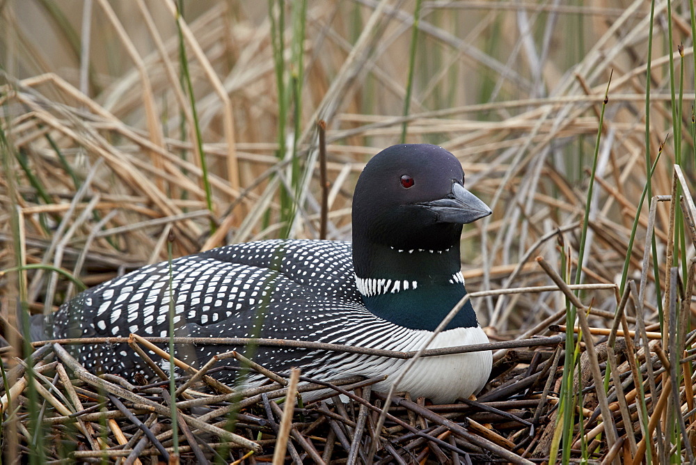
[[[491,214],[464,189],[459,160],[437,145],[393,145],[372,157],[353,196],[353,242],[398,250],[450,249],[461,226]]]

